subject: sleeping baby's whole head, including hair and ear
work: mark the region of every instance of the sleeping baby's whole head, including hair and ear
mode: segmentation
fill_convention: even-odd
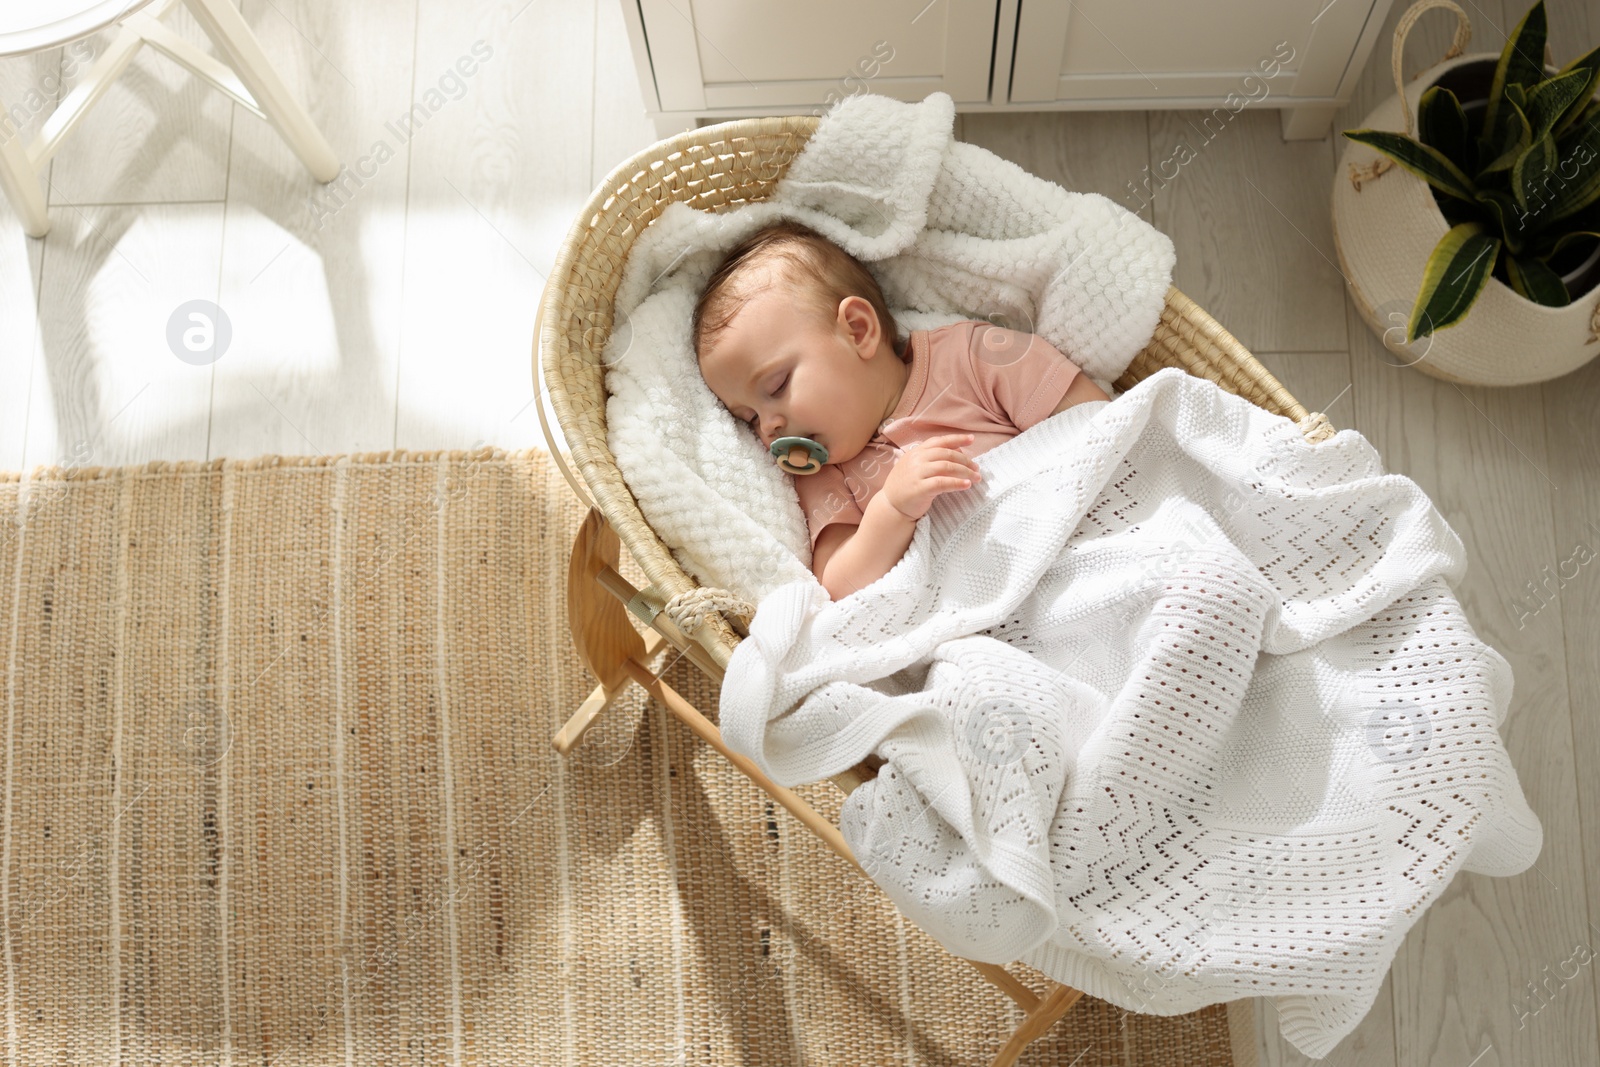
[[[731,248],[694,306],[701,374],[762,443],[808,437],[856,456],[899,403],[907,366],[877,280],[810,227],[774,222]]]

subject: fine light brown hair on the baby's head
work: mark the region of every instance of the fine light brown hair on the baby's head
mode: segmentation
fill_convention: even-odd
[[[829,320],[846,296],[859,296],[878,315],[878,330],[898,344],[898,325],[872,272],[848,251],[810,226],[782,219],[765,226],[728,250],[694,304],[694,354],[706,350],[750,296],[757,267],[773,266],[778,285]]]

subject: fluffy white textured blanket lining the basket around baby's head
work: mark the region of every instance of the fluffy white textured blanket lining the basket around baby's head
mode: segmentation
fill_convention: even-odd
[[[608,445],[651,528],[702,584],[758,603],[811,576],[794,483],[707,389],[690,318],[723,253],[781,218],[861,259],[902,328],[990,318],[1109,386],[1155,330],[1171,240],[952,134],[946,93],[829,110],[768,200],[669,205],[629,253],[605,350]],[[818,584],[821,589],[821,584]]]

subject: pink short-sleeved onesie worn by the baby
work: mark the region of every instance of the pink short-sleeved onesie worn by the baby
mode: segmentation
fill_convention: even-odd
[[[795,475],[813,549],[830,523],[861,525],[867,501],[912,443],[971,434],[962,451],[978,456],[1042,422],[1078,376],[1043,338],[981,320],[914,330],[909,350],[906,392],[867,446],[846,462]]]

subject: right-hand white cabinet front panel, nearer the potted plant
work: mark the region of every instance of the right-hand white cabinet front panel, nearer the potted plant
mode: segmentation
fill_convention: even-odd
[[[1024,3],[1010,99],[1246,96],[1262,80],[1272,94],[1331,96],[1371,10],[1373,0]]]

